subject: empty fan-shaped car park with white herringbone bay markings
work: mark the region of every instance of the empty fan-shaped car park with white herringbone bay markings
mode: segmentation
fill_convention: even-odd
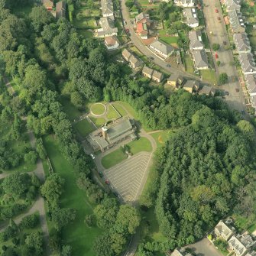
[[[112,168],[103,171],[115,190],[125,202],[134,202],[147,170],[151,153],[141,152]]]

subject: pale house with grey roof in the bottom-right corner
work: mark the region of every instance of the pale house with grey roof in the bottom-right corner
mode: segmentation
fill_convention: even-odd
[[[251,235],[233,235],[228,240],[228,247],[234,251],[237,256],[244,256],[255,245],[256,241],[251,238]]]

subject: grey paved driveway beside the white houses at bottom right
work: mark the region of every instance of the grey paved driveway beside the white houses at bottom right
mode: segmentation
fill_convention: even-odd
[[[223,256],[207,238],[188,245],[186,248],[191,248],[196,254],[201,256]]]

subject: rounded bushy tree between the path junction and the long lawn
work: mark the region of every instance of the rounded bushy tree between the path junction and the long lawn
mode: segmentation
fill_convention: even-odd
[[[65,180],[57,173],[53,173],[47,177],[44,185],[41,186],[41,193],[47,199],[48,203],[57,204],[60,195],[63,193],[64,182]]]

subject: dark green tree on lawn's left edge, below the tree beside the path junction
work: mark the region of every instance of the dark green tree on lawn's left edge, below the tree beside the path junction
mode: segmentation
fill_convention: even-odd
[[[60,231],[65,225],[68,225],[76,218],[76,211],[74,209],[59,207],[52,211],[52,222],[57,231]]]

